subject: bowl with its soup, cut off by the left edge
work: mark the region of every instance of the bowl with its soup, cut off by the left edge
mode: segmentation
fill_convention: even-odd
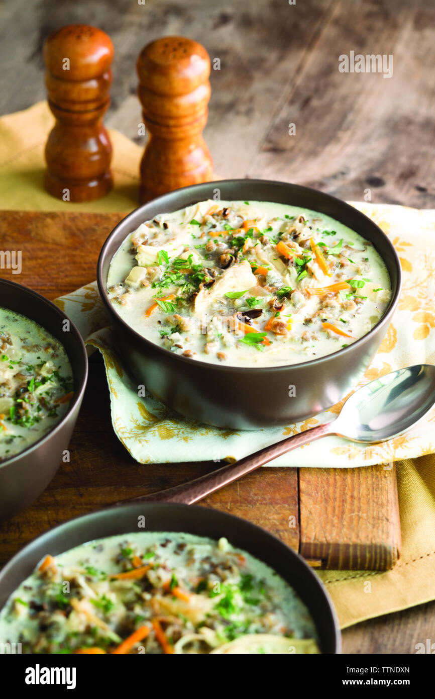
[[[80,334],[53,303],[0,280],[0,519],[50,482],[87,378]]]

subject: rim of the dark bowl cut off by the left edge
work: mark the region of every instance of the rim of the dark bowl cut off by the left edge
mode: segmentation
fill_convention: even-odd
[[[38,291],[34,291],[34,289],[29,289],[29,287],[24,287],[24,284],[18,284],[17,282],[13,282],[9,279],[4,279],[3,277],[0,278],[0,285],[1,284],[8,284],[8,285],[10,285],[10,287],[13,287],[15,289],[18,288],[18,289],[24,290],[25,293],[29,294],[29,296],[33,296],[34,298],[36,298],[38,303],[43,303],[43,305],[49,305],[50,308],[54,309],[57,312],[57,315],[59,315],[59,318],[69,321],[70,329],[73,331],[73,334],[78,339],[78,347],[80,347],[80,351],[82,353],[83,376],[82,376],[82,380],[80,381],[80,386],[78,388],[78,391],[75,392],[73,401],[71,401],[71,403],[68,407],[68,410],[66,411],[64,417],[62,417],[62,419],[59,420],[59,422],[57,422],[47,433],[45,433],[42,437],[40,437],[38,440],[36,440],[36,442],[31,442],[31,444],[28,447],[26,447],[25,449],[22,449],[21,452],[18,452],[17,454],[13,454],[12,456],[9,456],[8,459],[3,459],[3,461],[0,462],[0,471],[3,467],[10,466],[11,463],[18,461],[23,456],[27,456],[31,451],[33,451],[34,449],[37,449],[38,447],[40,447],[40,445],[45,444],[45,442],[50,440],[50,438],[52,437],[52,435],[54,433],[57,433],[59,430],[61,430],[61,428],[64,426],[64,424],[68,420],[69,416],[71,415],[71,412],[73,412],[73,410],[75,410],[76,406],[78,404],[80,404],[80,402],[82,401],[84,390],[86,389],[87,376],[88,376],[88,370],[89,370],[88,361],[87,361],[87,351],[86,351],[86,347],[85,347],[84,342],[83,342],[83,338],[80,335],[80,332],[78,331],[77,327],[75,326],[75,324],[73,323],[71,318],[68,315],[66,315],[66,313],[59,308],[59,306],[57,306],[55,303],[50,301],[50,299],[45,298],[45,296],[43,296],[42,294],[38,294]],[[3,308],[8,308],[8,299],[6,299],[6,301],[4,301],[4,302],[1,301],[0,306],[2,306]],[[24,315],[23,313],[21,315],[23,315],[24,317],[26,317],[29,320],[32,320],[34,323],[40,325],[39,323],[36,322],[36,320],[33,320],[31,317]],[[43,327],[43,326],[41,326],[41,327]],[[44,327],[44,330],[47,331],[47,329],[45,327]],[[47,332],[49,332],[49,331],[47,331]],[[50,333],[50,335],[51,334],[52,333]],[[60,340],[59,340],[59,342],[60,342]],[[65,347],[64,347],[64,349],[65,349]],[[68,355],[68,352],[67,352],[67,355]],[[69,359],[69,357],[68,357],[68,359]]]

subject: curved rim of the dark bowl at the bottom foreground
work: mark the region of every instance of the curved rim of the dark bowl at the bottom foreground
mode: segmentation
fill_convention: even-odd
[[[145,507],[144,507],[145,506]],[[252,552],[250,550],[250,545],[252,541],[258,540],[258,536],[260,535],[262,538],[266,537],[267,539],[271,540],[274,543],[275,547],[278,547],[281,549],[282,556],[288,556],[289,561],[291,560],[293,563],[292,570],[294,570],[295,567],[299,567],[300,570],[304,570],[304,574],[308,575],[311,578],[311,581],[313,582],[314,586],[316,587],[317,590],[317,596],[321,596],[323,598],[323,603],[326,605],[327,609],[330,612],[330,623],[331,627],[334,630],[334,654],[340,654],[341,653],[341,627],[339,623],[339,617],[337,614],[337,610],[335,609],[334,603],[332,602],[332,598],[330,597],[330,594],[328,593],[325,584],[323,581],[316,575],[316,572],[311,568],[309,563],[304,560],[304,558],[296,551],[294,551],[290,546],[288,546],[283,540],[281,540],[277,535],[272,534],[272,532],[268,531],[267,529],[258,526],[257,524],[253,524],[253,522],[243,519],[242,517],[237,517],[235,514],[231,514],[230,512],[223,512],[221,510],[216,510],[214,508],[209,508],[209,507],[201,507],[200,505],[186,505],[185,503],[170,503],[170,502],[152,502],[152,501],[147,501],[145,503],[140,503],[138,500],[133,500],[133,501],[126,501],[124,503],[119,503],[118,505],[110,505],[109,507],[103,507],[101,510],[94,510],[92,512],[88,512],[87,514],[81,514],[78,517],[73,517],[73,519],[67,519],[66,521],[62,522],[61,524],[58,524],[57,526],[54,526],[50,528],[48,531],[43,532],[33,540],[31,540],[29,543],[27,543],[24,547],[22,547],[19,551],[17,551],[16,554],[6,563],[6,565],[3,566],[3,568],[0,570],[0,586],[3,581],[6,581],[8,579],[8,576],[10,575],[10,572],[13,571],[13,568],[15,568],[15,565],[18,565],[20,563],[25,563],[27,557],[31,555],[32,549],[38,545],[45,545],[45,542],[47,544],[50,544],[50,539],[62,537],[63,533],[67,533],[68,530],[71,530],[71,528],[77,528],[82,524],[83,526],[89,525],[89,529],[92,529],[92,526],[95,523],[98,523],[98,519],[104,519],[105,517],[110,516],[110,514],[114,514],[115,518],[111,517],[111,521],[114,521],[116,519],[116,513],[119,512],[119,516],[122,517],[123,514],[128,514],[129,511],[131,510],[131,514],[135,515],[136,511],[140,511],[140,514],[146,515],[146,507],[156,507],[158,510],[168,510],[168,514],[165,515],[168,519],[168,524],[170,523],[171,520],[171,513],[177,514],[179,512],[182,514],[182,512],[187,512],[189,511],[190,514],[193,513],[193,517],[195,519],[200,519],[200,517],[204,517],[205,511],[210,511],[212,512],[212,516],[214,518],[221,518],[225,521],[228,522],[228,529],[231,531],[237,531],[237,526],[242,522],[242,526],[244,527],[244,530],[246,532],[246,538],[249,538],[249,541],[247,545],[244,546],[239,546],[239,548],[242,548],[246,550],[247,553],[251,554],[254,558],[256,558],[258,561],[261,561],[262,563],[265,563],[269,568],[274,570],[274,572],[277,572],[278,575],[280,575],[285,582],[287,582],[290,586],[294,588],[294,582],[290,581],[290,574],[286,575],[283,572],[280,572],[277,570],[277,568],[274,567],[271,563],[267,563],[263,557],[258,556],[258,554]],[[175,518],[175,521],[181,521],[182,517]],[[174,521],[174,518],[172,517],[172,521]],[[183,526],[183,525],[182,525]],[[122,528],[120,526],[120,528]],[[154,529],[154,528],[148,528],[144,531],[155,531],[155,532],[163,532],[163,529]],[[165,530],[168,533],[187,533],[189,534],[189,525],[186,525],[186,528],[180,528],[178,531],[177,529],[171,530],[170,526]],[[110,538],[112,536],[121,536],[121,535],[128,535],[128,533],[133,533],[131,532],[123,532],[121,531],[118,534],[110,534],[106,536],[98,536],[98,538],[90,538],[87,540],[82,541],[81,543],[76,544],[73,547],[69,547],[64,549],[61,553],[68,552],[76,547],[80,547],[84,544],[87,544],[92,541],[100,540],[100,539],[105,539],[105,538]],[[192,532],[190,532],[192,533]],[[196,536],[202,536],[204,538],[212,538],[214,537],[207,535],[206,533],[198,534],[198,533],[193,533],[193,535]],[[223,533],[223,536],[227,536],[226,533]],[[230,537],[228,537],[230,538]],[[230,541],[231,543],[231,541]],[[238,545],[237,545],[238,547]],[[61,554],[54,554],[54,556],[58,556]],[[290,568],[290,565],[288,566]],[[34,569],[33,569],[34,570]],[[29,573],[31,575],[31,573]],[[21,584],[26,577],[24,577],[20,583]],[[15,587],[16,589],[16,587]],[[5,599],[5,602],[3,605],[0,607],[0,612],[3,609],[4,605],[6,605],[8,598],[10,597],[10,594],[13,593],[13,590],[8,593],[8,596]],[[297,594],[299,597],[302,597],[301,593],[297,591]],[[311,596],[313,598],[313,596]],[[304,604],[308,607],[309,604],[307,604],[306,600],[302,600]],[[320,619],[316,619],[314,617],[314,614],[311,613],[311,610],[309,610],[311,618],[314,621],[314,624],[316,626],[316,630],[318,630],[320,626]]]

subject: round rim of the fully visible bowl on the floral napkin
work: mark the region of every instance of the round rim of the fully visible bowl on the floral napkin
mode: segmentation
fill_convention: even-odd
[[[167,199],[168,196],[170,195],[176,195],[176,194],[181,194],[185,193],[186,195],[189,193],[194,193],[196,190],[204,187],[204,185],[216,185],[218,187],[219,182],[225,182],[226,185],[233,187],[237,185],[241,185],[242,183],[249,187],[249,185],[265,185],[265,186],[281,186],[281,187],[292,187],[297,190],[300,190],[300,192],[304,191],[305,193],[313,193],[314,195],[320,194],[321,196],[325,197],[326,199],[329,199],[334,206],[338,206],[343,208],[344,210],[347,210],[350,213],[353,213],[353,215],[358,215],[362,217],[363,219],[366,219],[369,224],[374,227],[378,235],[383,238],[383,240],[387,243],[387,245],[390,247],[390,253],[392,254],[392,259],[395,262],[395,267],[396,267],[396,274],[397,274],[397,287],[395,290],[395,294],[392,295],[390,298],[390,303],[388,305],[388,309],[385,311],[383,316],[378,320],[378,322],[369,330],[368,333],[365,333],[363,336],[355,340],[354,343],[351,345],[348,345],[347,347],[341,347],[340,349],[337,349],[336,352],[331,352],[330,354],[325,354],[323,356],[316,357],[316,359],[310,359],[309,361],[301,361],[298,363],[292,363],[292,364],[280,364],[279,366],[237,366],[237,365],[232,365],[232,364],[221,364],[221,363],[215,363],[215,362],[206,362],[206,361],[201,361],[200,359],[195,359],[192,361],[189,357],[182,356],[181,354],[175,354],[175,352],[170,352],[169,349],[166,349],[165,347],[161,347],[160,345],[157,345],[156,343],[152,342],[152,340],[148,340],[148,338],[145,338],[143,335],[138,333],[131,325],[126,323],[126,321],[119,315],[117,312],[115,306],[110,303],[110,299],[108,297],[107,290],[105,289],[105,281],[103,279],[103,263],[105,262],[105,258],[108,255],[108,247],[110,243],[112,242],[112,238],[115,238],[117,235],[119,229],[123,229],[124,226],[126,226],[126,222],[128,222],[128,219],[130,219],[133,215],[138,215],[138,212],[142,211],[143,209],[147,208],[150,204],[154,206],[158,206],[159,203],[164,203]],[[198,200],[202,201],[202,200]],[[264,199],[263,201],[270,201],[267,199]],[[312,209],[314,211],[314,209]],[[321,213],[321,212],[319,212]],[[339,221],[339,219],[337,219]],[[340,221],[339,221],[340,222]],[[357,232],[357,231],[355,231]],[[130,231],[129,233],[124,236],[124,240],[131,234],[133,231]],[[358,233],[358,235],[360,235]],[[122,243],[120,243],[121,245]],[[383,259],[381,253],[379,253],[381,258]],[[113,257],[112,257],[113,259]],[[383,262],[385,264],[385,260],[383,259]],[[107,280],[106,280],[107,282]],[[332,357],[336,357],[338,354],[341,354],[341,356],[346,358],[346,355],[349,354],[349,352],[352,351],[354,347],[361,347],[364,345],[364,343],[367,343],[369,339],[373,336],[373,333],[375,331],[378,331],[379,329],[382,329],[385,325],[388,325],[390,323],[390,320],[392,318],[392,315],[395,313],[397,303],[399,301],[399,296],[401,294],[401,285],[402,285],[402,274],[401,274],[401,264],[399,261],[399,255],[397,254],[394,245],[392,245],[390,239],[388,236],[385,235],[383,230],[374,222],[372,221],[368,216],[363,214],[359,209],[351,206],[351,204],[348,204],[346,201],[343,201],[342,199],[338,199],[336,196],[332,196],[332,194],[327,194],[326,192],[320,192],[319,189],[314,189],[313,187],[305,187],[304,185],[295,185],[293,182],[281,182],[279,180],[251,180],[251,179],[246,179],[246,178],[240,178],[240,179],[229,179],[229,180],[215,180],[214,182],[200,182],[196,185],[189,185],[189,187],[180,187],[179,189],[174,189],[172,192],[167,192],[166,194],[162,194],[161,196],[156,197],[155,199],[152,199],[151,201],[148,201],[145,204],[142,204],[141,206],[138,206],[137,208],[133,209],[133,211],[129,212],[121,221],[115,226],[115,228],[110,231],[108,237],[106,238],[105,242],[103,243],[103,247],[101,248],[101,252],[98,255],[98,263],[97,263],[97,284],[98,284],[98,291],[101,296],[101,299],[103,301],[103,304],[105,305],[106,310],[108,310],[109,316],[110,314],[115,315],[115,318],[118,323],[121,324],[121,326],[124,327],[126,331],[129,333],[133,333],[135,338],[139,341],[142,341],[147,345],[148,347],[151,347],[154,351],[157,351],[163,356],[170,356],[172,357],[173,361],[180,361],[182,363],[189,363],[189,366],[200,366],[202,369],[209,369],[213,368],[216,371],[220,371],[221,373],[243,373],[243,374],[250,374],[250,373],[256,373],[258,374],[259,371],[262,373],[275,373],[275,372],[288,372],[289,370],[297,370],[300,368],[311,368],[314,366],[319,366],[322,365],[323,363],[326,363],[329,359]]]

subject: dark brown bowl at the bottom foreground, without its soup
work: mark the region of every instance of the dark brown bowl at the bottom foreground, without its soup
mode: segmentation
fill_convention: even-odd
[[[321,651],[341,652],[337,614],[325,587],[304,559],[264,529],[231,514],[196,505],[125,503],[61,524],[27,545],[0,572],[0,609],[46,554],[56,556],[94,539],[137,532],[139,517],[145,517],[147,531],[186,532],[215,540],[225,536],[233,546],[270,565],[307,605],[316,624]]]

